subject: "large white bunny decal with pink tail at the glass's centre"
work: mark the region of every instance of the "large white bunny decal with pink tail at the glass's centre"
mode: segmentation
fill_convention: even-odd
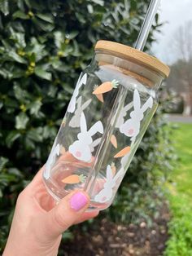
[[[81,161],[89,162],[91,161],[92,154],[91,152],[94,151],[94,147],[98,143],[100,143],[100,138],[93,141],[92,136],[95,135],[97,132],[103,134],[103,124],[101,121],[97,121],[94,126],[92,126],[89,130],[87,130],[87,124],[85,119],[85,114],[81,113],[80,119],[80,127],[81,132],[77,135],[78,140],[72,143],[69,146],[68,151],[72,153],[73,157]]]

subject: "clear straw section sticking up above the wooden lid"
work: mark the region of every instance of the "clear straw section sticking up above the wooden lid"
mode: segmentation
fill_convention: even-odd
[[[155,14],[157,13],[157,9],[159,7],[159,2],[160,0],[151,0],[150,6],[146,12],[145,20],[142,23],[142,29],[140,30],[137,42],[134,46],[139,51],[143,51],[143,48],[146,45],[146,39],[150,33]]]

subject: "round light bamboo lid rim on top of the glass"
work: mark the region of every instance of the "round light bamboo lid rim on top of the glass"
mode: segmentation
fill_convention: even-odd
[[[133,63],[140,64],[152,71],[159,73],[163,77],[168,77],[170,68],[157,58],[146,54],[145,52],[138,51],[132,47],[124,46],[118,42],[100,40],[96,43],[94,49],[107,51],[111,55],[116,55],[124,60],[133,61]]]

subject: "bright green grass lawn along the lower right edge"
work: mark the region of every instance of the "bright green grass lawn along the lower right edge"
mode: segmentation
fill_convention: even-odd
[[[172,214],[166,256],[192,255],[192,124],[177,123],[172,139],[179,161],[168,183]]]

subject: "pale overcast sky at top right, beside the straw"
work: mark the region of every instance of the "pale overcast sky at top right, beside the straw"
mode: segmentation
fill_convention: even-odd
[[[166,22],[161,28],[162,33],[155,33],[152,53],[167,64],[177,60],[177,52],[172,49],[172,40],[177,28],[192,20],[192,0],[161,0],[159,20]],[[192,42],[191,42],[192,43]]]

